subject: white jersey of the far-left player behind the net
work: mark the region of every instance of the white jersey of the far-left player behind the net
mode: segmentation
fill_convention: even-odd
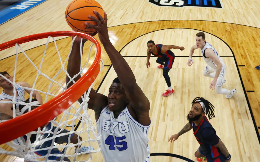
[[[17,86],[21,86],[19,84],[16,84]],[[16,102],[23,102],[25,101],[25,98],[24,98],[24,88],[21,88],[21,87],[16,87],[16,92],[18,94],[18,97],[15,97],[15,100]],[[13,96],[10,96],[8,94],[6,94],[5,92],[2,92],[0,94],[0,100],[4,100],[4,99],[9,99],[11,101],[13,101]],[[22,115],[23,113],[19,111],[19,105],[18,103],[15,103],[15,114],[16,116],[19,116],[19,115]]]

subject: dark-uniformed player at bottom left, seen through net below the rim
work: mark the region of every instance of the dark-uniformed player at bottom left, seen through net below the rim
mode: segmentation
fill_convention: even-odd
[[[23,101],[23,102],[29,104],[29,98],[27,100]],[[32,99],[31,104],[33,104],[33,106],[31,106],[31,110],[34,110],[37,107],[41,106],[41,104],[35,98]],[[28,110],[29,110],[29,105],[25,105],[25,104],[21,103],[19,105],[18,110],[22,114],[27,113]],[[0,114],[0,121],[1,122],[4,122],[6,120],[10,120],[10,119],[13,119],[13,117],[9,116],[7,114],[3,114],[3,113]],[[52,126],[51,122],[48,122],[45,125],[41,126],[41,130],[43,130],[43,129],[44,129],[44,131],[49,131],[51,129],[51,132],[54,132],[55,129],[57,129],[57,127]],[[35,131],[37,131],[37,129]],[[70,131],[68,131],[67,129],[63,129],[61,131],[61,129],[58,128],[58,132],[59,133],[57,133],[57,135],[59,135],[61,133],[68,133]],[[51,138],[52,136],[53,136],[52,133],[42,133],[41,135],[38,136],[38,138],[40,138],[42,140],[42,139],[47,138],[47,137]],[[35,133],[31,134],[30,143],[35,142],[36,137],[37,136],[36,136]],[[19,137],[19,138],[21,138],[21,137]],[[23,135],[23,138],[25,139],[25,142],[27,142],[27,140],[28,140],[27,139],[27,135]],[[67,143],[68,142],[68,138],[69,138],[69,134],[63,135],[63,136],[59,136],[59,137],[56,137],[54,139],[54,142],[57,143],[57,144]],[[71,137],[70,137],[70,142],[71,143],[73,143],[73,144],[79,143],[80,141],[78,139],[80,141],[82,141],[82,137],[81,136],[78,137],[78,135],[76,133],[72,133],[71,134]],[[17,139],[15,139],[15,140],[17,140]],[[15,140],[13,140],[13,141],[15,141]],[[15,142],[15,143],[17,143],[17,142]],[[21,144],[21,145],[23,145],[23,144]],[[52,145],[52,139],[49,140],[49,141],[45,141],[44,143],[41,143],[40,145],[35,146],[35,149],[43,149],[43,150],[40,150],[40,151],[35,151],[35,153],[37,155],[40,155],[40,156],[47,155],[48,154],[48,148],[51,147],[51,145]],[[79,145],[78,150],[77,150],[77,147],[78,147],[77,145],[75,145],[74,147],[75,147],[75,153],[77,153],[77,152],[78,153],[81,153],[81,152],[89,153],[89,151],[93,150],[93,147],[91,147],[91,149],[89,149],[90,147],[81,146],[81,145]],[[46,148],[46,149],[44,149],[44,148]],[[53,155],[53,154],[61,154],[61,151],[59,149],[57,149],[57,148],[51,149],[50,154],[52,154],[52,155],[48,157],[48,160],[56,160],[56,161],[60,161],[61,160],[61,157]],[[64,161],[70,161],[69,158],[67,158],[67,157],[64,157],[63,160]],[[29,162],[29,161],[27,161],[27,162]]]

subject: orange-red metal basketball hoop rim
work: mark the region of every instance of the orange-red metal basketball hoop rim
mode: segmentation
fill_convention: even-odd
[[[42,106],[31,110],[21,116],[14,119],[0,123],[0,144],[6,143],[18,137],[21,137],[30,131],[44,125],[62,112],[64,112],[69,106],[76,102],[84,92],[91,86],[96,79],[100,70],[100,58],[101,58],[101,46],[99,42],[91,35],[85,33],[79,33],[75,31],[53,31],[46,33],[33,34],[18,39],[10,40],[8,42],[0,44],[0,51],[15,46],[16,43],[22,44],[32,40],[43,39],[49,36],[78,36],[84,39],[88,39],[95,43],[97,48],[97,54],[93,61],[93,64],[89,67],[87,72],[79,79],[75,84],[70,86],[63,93],[59,94],[55,98],[49,100]],[[40,119],[40,120],[39,120]]]

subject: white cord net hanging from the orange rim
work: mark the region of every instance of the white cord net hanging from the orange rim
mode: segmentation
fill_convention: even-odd
[[[47,74],[44,74],[41,72],[41,67],[43,64],[43,59],[46,54],[47,46],[49,43],[49,39],[51,36],[47,38],[47,43],[45,46],[45,50],[42,56],[41,63],[39,65],[39,68],[30,60],[30,58],[25,54],[24,50],[19,44],[15,44],[16,48],[16,60],[15,60],[15,67],[14,67],[14,75],[13,75],[13,82],[11,82],[9,79],[7,79],[5,76],[1,75],[5,80],[13,84],[14,90],[13,93],[16,94],[17,88],[25,88],[27,90],[31,90],[30,93],[30,103],[25,103],[22,101],[16,101],[15,97],[13,96],[13,101],[0,101],[0,103],[12,103],[13,104],[13,116],[16,115],[15,111],[15,104],[22,104],[22,105],[29,105],[29,111],[31,110],[30,106],[35,106],[35,104],[31,104],[32,101],[32,94],[33,91],[38,91],[41,95],[45,95],[45,102],[47,102],[47,97],[50,96],[57,96],[58,94],[54,94],[51,92],[51,87],[53,85],[58,85],[60,88],[62,88],[63,91],[66,90],[68,84],[70,82],[75,83],[73,80],[77,76],[82,76],[83,70],[86,70],[87,64],[90,60],[91,55],[91,48],[94,43],[91,44],[89,49],[89,55],[87,63],[82,68],[82,50],[81,50],[81,70],[78,74],[73,76],[71,78],[68,74],[68,72],[65,70],[65,64],[68,61],[68,58],[71,54],[72,50],[72,44],[76,37],[72,40],[71,48],[69,55],[67,56],[65,62],[62,62],[61,55],[59,54],[59,50],[57,48],[57,44],[55,41],[55,38],[53,38],[55,48],[57,50],[57,54],[59,55],[59,61],[61,63],[61,69],[55,74],[55,76],[49,77]],[[82,46],[82,38],[81,38],[81,46]],[[17,58],[18,58],[18,47],[22,51],[22,53],[29,62],[34,66],[35,70],[37,70],[37,76],[35,78],[35,81],[32,85],[32,88],[27,88],[20,86],[19,84],[15,83],[15,76],[16,76],[16,70],[17,70]],[[81,48],[82,49],[82,48]],[[96,57],[95,52],[95,56]],[[103,68],[103,61],[102,67]],[[70,81],[65,86],[59,83],[55,78],[60,74],[61,72],[65,72],[65,74],[69,77]],[[49,84],[49,88],[46,91],[38,90],[35,88],[35,84],[37,83],[37,80],[39,76],[44,76],[48,80],[51,81],[51,84]],[[65,80],[65,76],[64,76]],[[63,80],[63,81],[64,81]],[[26,80],[23,80],[26,81]],[[93,85],[93,83],[92,83]],[[63,114],[59,116],[59,121],[53,119],[49,122],[49,124],[45,125],[44,127],[39,127],[37,130],[27,133],[27,135],[24,135],[23,137],[19,137],[13,141],[9,141],[0,147],[0,153],[2,154],[8,154],[8,155],[15,155],[20,158],[25,158],[25,160],[28,161],[56,161],[52,159],[57,159],[57,157],[60,157],[61,161],[64,161],[67,158],[70,159],[70,161],[91,161],[92,156],[91,153],[95,153],[100,151],[101,141],[100,137],[96,134],[96,127],[93,127],[93,122],[90,119],[90,116],[87,114],[87,102],[89,100],[89,92],[92,87],[92,85],[89,87],[88,93],[85,92],[83,94],[82,103],[79,103],[78,101],[75,102],[72,106],[70,106]],[[44,99],[44,96],[43,96]],[[44,102],[44,103],[45,103]],[[4,120],[0,122],[5,122]],[[80,122],[80,124],[79,124]],[[78,124],[79,127],[76,125]],[[77,128],[76,128],[77,127]],[[75,129],[76,128],[76,129]],[[77,137],[77,143],[74,142],[71,143],[72,136],[78,135]],[[36,136],[36,137],[35,137]],[[82,141],[80,138],[82,137]],[[25,139],[27,138],[27,141],[25,142]],[[8,145],[8,147],[6,146]],[[80,147],[81,146],[81,147]],[[77,147],[77,148],[76,148]],[[93,149],[91,149],[93,147]],[[56,152],[55,152],[56,151]],[[83,151],[83,152],[81,152]],[[38,155],[37,155],[37,154]],[[84,156],[82,156],[84,154]],[[53,158],[51,158],[53,157]],[[48,159],[49,158],[49,159]],[[51,159],[50,159],[51,158]]]

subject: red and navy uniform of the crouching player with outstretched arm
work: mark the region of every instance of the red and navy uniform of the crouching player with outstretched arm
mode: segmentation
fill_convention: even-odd
[[[171,69],[173,62],[174,62],[174,53],[171,52],[171,50],[167,50],[165,53],[161,53],[161,49],[163,44],[155,44],[157,48],[157,53],[153,54],[153,52],[150,52],[152,55],[158,57],[156,62],[164,65],[164,68]]]

